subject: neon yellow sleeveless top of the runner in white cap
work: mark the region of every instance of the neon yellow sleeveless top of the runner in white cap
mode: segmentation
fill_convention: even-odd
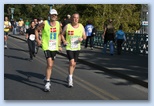
[[[42,30],[42,49],[58,51],[58,37],[60,34],[60,24],[56,21],[56,26],[50,26],[50,21],[45,20]]]

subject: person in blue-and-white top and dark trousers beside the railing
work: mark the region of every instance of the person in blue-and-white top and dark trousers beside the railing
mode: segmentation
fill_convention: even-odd
[[[92,30],[93,30],[94,26],[92,25],[91,21],[89,20],[87,22],[87,25],[85,26],[85,32],[86,32],[86,42],[85,42],[85,48],[88,47],[88,41],[90,40],[90,48],[91,50],[93,50],[93,36],[92,36]]]

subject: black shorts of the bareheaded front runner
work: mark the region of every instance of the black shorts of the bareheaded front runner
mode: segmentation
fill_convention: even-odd
[[[68,57],[69,60],[74,59],[74,61],[77,62],[80,51],[67,50],[66,52],[67,52],[67,57]]]

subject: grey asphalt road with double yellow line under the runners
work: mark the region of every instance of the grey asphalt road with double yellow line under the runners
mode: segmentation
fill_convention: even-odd
[[[32,62],[24,41],[9,37],[4,50],[5,100],[148,100],[148,89],[77,63],[74,87],[68,88],[68,59],[57,55],[51,91],[44,92],[46,59],[40,49]]]

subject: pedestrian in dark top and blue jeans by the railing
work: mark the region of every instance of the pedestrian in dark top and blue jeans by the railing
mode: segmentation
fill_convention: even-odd
[[[109,23],[107,25],[105,25],[105,29],[104,29],[104,33],[102,35],[102,38],[104,39],[103,53],[106,54],[106,47],[107,47],[107,43],[109,41],[110,55],[113,55],[114,54],[115,32],[114,32],[114,26],[112,23],[112,19],[109,19]]]

